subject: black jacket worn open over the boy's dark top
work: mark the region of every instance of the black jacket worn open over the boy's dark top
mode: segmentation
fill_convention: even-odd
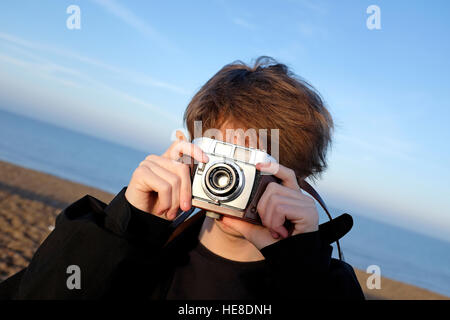
[[[0,299],[164,299],[175,268],[189,263],[203,218],[165,246],[171,222],[132,207],[125,190],[109,205],[87,195],[63,210],[29,266],[0,283]],[[264,297],[364,299],[352,267],[331,258],[330,243],[351,227],[344,214],[263,248]],[[79,290],[67,287],[70,265],[80,267]]]

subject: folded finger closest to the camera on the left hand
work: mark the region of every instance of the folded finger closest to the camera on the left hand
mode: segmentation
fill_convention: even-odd
[[[183,211],[188,211],[192,205],[191,175],[189,167],[181,162],[158,157],[156,155],[150,155],[146,160],[157,163],[159,166],[177,174],[181,178],[179,194],[180,208]]]

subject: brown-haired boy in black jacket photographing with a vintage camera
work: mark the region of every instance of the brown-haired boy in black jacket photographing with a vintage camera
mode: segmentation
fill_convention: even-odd
[[[192,205],[189,167],[178,160],[188,155],[208,161],[178,132],[164,154],[141,162],[128,187],[109,205],[86,196],[66,208],[30,265],[0,285],[0,295],[364,299],[352,267],[331,258],[330,243],[351,228],[351,219],[341,225],[335,220],[325,234],[319,230],[314,200],[298,184],[326,168],[333,129],[329,112],[310,85],[268,57],[252,67],[236,62],[199,90],[184,120],[191,137],[194,123],[201,121],[202,135],[213,130],[215,139],[245,146],[253,141],[244,131],[279,129],[275,176],[281,183],[269,184],[258,202],[262,226],[231,217],[214,219],[202,211],[165,245],[172,220]],[[268,168],[258,164],[257,170]],[[291,233],[286,220],[294,226]],[[68,280],[71,265],[81,271],[75,288]]]

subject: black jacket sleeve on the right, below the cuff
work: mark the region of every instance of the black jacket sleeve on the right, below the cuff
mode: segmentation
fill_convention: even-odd
[[[326,229],[291,236],[261,250],[277,298],[364,299],[353,268],[331,257],[333,237]]]

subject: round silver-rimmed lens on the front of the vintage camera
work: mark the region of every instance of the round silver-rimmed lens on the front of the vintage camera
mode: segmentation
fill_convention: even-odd
[[[206,171],[204,182],[207,193],[217,200],[231,200],[240,192],[242,174],[234,164],[216,163]]]

